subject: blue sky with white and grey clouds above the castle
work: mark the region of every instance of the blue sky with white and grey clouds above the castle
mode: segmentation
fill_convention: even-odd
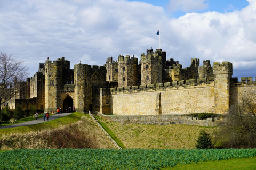
[[[1,0],[0,51],[30,75],[65,57],[71,68],[161,48],[183,67],[191,58],[233,63],[233,77],[256,76],[254,0]],[[238,79],[239,80],[239,79]]]

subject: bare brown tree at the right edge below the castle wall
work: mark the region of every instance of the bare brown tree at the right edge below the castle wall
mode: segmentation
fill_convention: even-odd
[[[239,97],[238,103],[230,106],[220,133],[222,147],[256,147],[256,96],[246,93]]]

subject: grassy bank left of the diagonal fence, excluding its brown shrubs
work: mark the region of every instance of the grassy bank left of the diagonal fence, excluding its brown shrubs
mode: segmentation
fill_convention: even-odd
[[[82,116],[85,116],[85,118],[83,118]],[[65,128],[65,127],[63,125],[66,125],[66,127],[68,129],[70,129],[71,123],[75,123],[78,125],[78,128],[85,135],[85,137],[83,139],[91,141],[90,143],[92,144],[93,148],[109,148],[109,149],[114,148],[114,146],[107,139],[106,135],[92,121],[91,117],[88,114],[72,113],[68,116],[58,118],[56,120],[43,122],[43,123],[39,123],[39,124],[35,124],[35,125],[21,126],[21,127],[17,127],[17,128],[0,129],[0,134],[3,134],[0,137],[0,141],[1,141],[1,139],[3,140],[3,142],[5,141],[4,142],[5,144],[2,146],[2,149],[4,149],[4,150],[5,149],[18,149],[21,146],[22,146],[22,148],[29,148],[29,149],[49,148],[50,146],[44,145],[44,143],[45,143],[44,139],[41,139],[42,134],[45,134],[45,130],[50,132],[54,129],[55,133],[54,132],[53,133],[55,135],[57,135],[57,133],[64,130],[63,128]],[[69,133],[68,135],[73,135],[75,132],[73,133],[72,130],[74,130],[74,129],[71,128],[70,130],[71,131],[68,132]],[[65,130],[65,132],[67,132],[67,130]],[[82,137],[82,135],[76,135],[76,138],[78,138],[80,136]],[[70,138],[73,138],[73,137],[70,136]],[[29,139],[29,140],[27,140],[27,139]],[[6,140],[10,141],[10,145],[6,145],[6,142],[7,142]],[[65,140],[65,139],[62,139],[62,141],[63,140]],[[60,142],[62,142],[62,141],[60,141]],[[17,142],[20,143],[20,145],[18,145]],[[68,143],[68,141],[66,141],[64,143]]]

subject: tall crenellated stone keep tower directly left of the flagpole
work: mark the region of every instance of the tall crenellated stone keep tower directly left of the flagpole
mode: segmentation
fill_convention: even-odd
[[[147,49],[147,55],[141,54],[141,85],[162,83],[162,49],[153,52]],[[166,53],[165,53],[166,60]]]

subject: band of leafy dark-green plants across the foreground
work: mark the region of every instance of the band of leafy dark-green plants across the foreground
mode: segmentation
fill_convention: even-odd
[[[255,156],[256,149],[18,149],[0,153],[0,169],[159,169]]]

